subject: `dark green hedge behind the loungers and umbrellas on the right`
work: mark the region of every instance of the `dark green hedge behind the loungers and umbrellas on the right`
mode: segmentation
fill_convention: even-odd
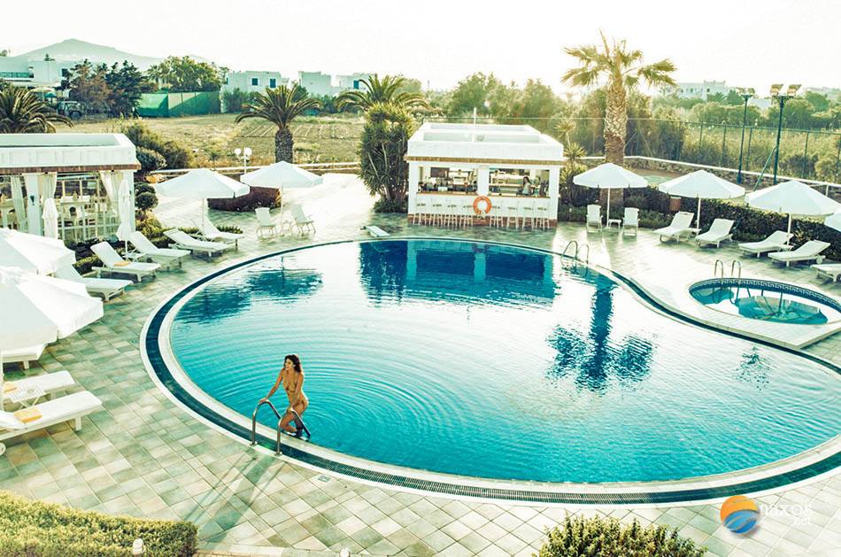
[[[674,213],[668,211],[669,197],[667,194],[649,187],[647,189],[625,190],[625,206],[637,207],[640,210],[639,224],[644,228],[660,228],[667,226]],[[695,213],[698,200],[688,197],[681,199],[681,211]],[[612,209],[617,211],[621,209]],[[584,222],[587,208],[578,205],[559,205],[558,220]],[[788,215],[771,213],[754,209],[743,202],[727,199],[704,199],[701,201],[700,228],[707,229],[715,219],[729,219],[734,221],[733,239],[737,242],[754,242],[768,237],[775,230],[785,230],[788,226]],[[829,259],[841,260],[841,232],[823,224],[823,218],[808,219],[795,217],[791,224],[794,234],[792,244],[804,244],[808,240],[829,242],[829,248],[823,252]]]

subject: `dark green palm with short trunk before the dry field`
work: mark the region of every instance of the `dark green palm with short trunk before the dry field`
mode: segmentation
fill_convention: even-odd
[[[274,133],[274,160],[292,161],[294,140],[289,126],[292,120],[308,110],[318,110],[321,103],[316,98],[306,96],[297,83],[292,87],[281,85],[275,89],[266,88],[265,93],[258,93],[251,102],[243,106],[243,112],[234,120],[239,123],[249,118],[261,118],[277,126]]]

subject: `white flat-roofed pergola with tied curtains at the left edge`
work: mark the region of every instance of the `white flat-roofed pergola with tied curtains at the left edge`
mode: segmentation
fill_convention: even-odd
[[[12,193],[0,203],[3,226],[13,211],[21,231],[42,236],[43,204],[53,198],[63,239],[111,235],[120,226],[123,190],[134,214],[139,169],[135,145],[122,134],[0,134],[0,179],[11,182]],[[94,182],[96,193],[63,195],[58,183],[68,177]]]

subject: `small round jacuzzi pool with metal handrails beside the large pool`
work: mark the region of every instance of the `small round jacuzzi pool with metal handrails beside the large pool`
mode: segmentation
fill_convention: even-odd
[[[748,319],[799,325],[841,320],[837,300],[785,282],[709,279],[692,284],[690,294],[704,306]]]

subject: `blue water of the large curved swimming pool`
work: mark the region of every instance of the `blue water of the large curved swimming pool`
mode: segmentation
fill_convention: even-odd
[[[170,340],[193,382],[246,416],[295,352],[312,443],[436,472],[672,480],[766,464],[841,431],[834,370],[497,244],[343,243],[263,259],[204,285]],[[282,390],[274,401],[283,407]]]

